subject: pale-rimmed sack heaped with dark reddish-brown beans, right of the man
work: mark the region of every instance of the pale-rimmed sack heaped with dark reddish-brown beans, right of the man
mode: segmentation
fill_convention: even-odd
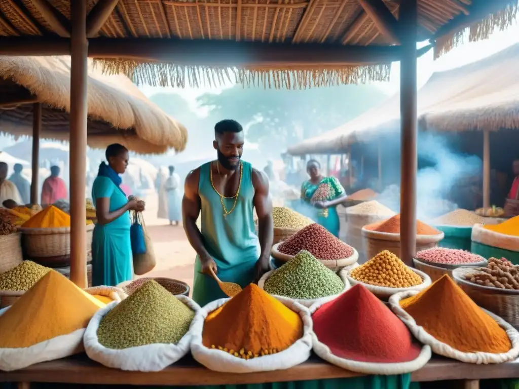
[[[310,252],[324,266],[340,269],[357,262],[359,253],[353,247],[334,237],[317,223],[299,230],[284,242],[272,246],[274,258],[287,262],[302,250]]]

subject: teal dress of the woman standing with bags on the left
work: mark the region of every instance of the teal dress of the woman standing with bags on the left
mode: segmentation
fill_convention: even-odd
[[[110,212],[128,201],[111,178],[98,176],[92,184],[92,201],[107,197]],[[130,213],[125,212],[108,224],[96,224],[92,237],[92,285],[116,286],[133,276],[130,243]]]

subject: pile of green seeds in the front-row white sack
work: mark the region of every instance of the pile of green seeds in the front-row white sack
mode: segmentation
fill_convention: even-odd
[[[176,344],[194,317],[192,309],[151,280],[101,319],[97,335],[99,343],[108,349]]]

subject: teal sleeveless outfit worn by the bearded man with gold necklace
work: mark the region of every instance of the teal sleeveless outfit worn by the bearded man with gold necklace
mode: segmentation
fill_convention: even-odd
[[[259,249],[254,233],[252,165],[242,161],[243,175],[234,211],[224,217],[220,196],[211,185],[208,162],[200,166],[198,194],[201,200],[201,234],[204,247],[216,262],[218,278],[245,287],[254,281],[254,266]],[[237,172],[239,173],[239,171]],[[235,199],[223,199],[230,210]],[[212,277],[201,274],[200,258],[195,260],[193,300],[199,305],[227,297]]]

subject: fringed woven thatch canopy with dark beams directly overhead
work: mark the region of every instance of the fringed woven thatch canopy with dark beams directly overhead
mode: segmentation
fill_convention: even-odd
[[[4,52],[70,53],[66,0],[2,3]],[[389,79],[401,58],[399,0],[98,0],[88,2],[88,55],[151,85],[305,88]],[[418,0],[418,40],[436,56],[507,27],[517,0]]]

